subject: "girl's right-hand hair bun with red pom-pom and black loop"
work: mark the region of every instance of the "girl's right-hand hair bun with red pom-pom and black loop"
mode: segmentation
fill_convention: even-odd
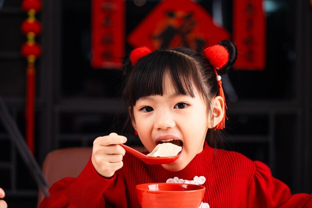
[[[204,55],[219,72],[226,72],[237,58],[237,48],[229,40],[222,40],[217,45],[204,49]]]

